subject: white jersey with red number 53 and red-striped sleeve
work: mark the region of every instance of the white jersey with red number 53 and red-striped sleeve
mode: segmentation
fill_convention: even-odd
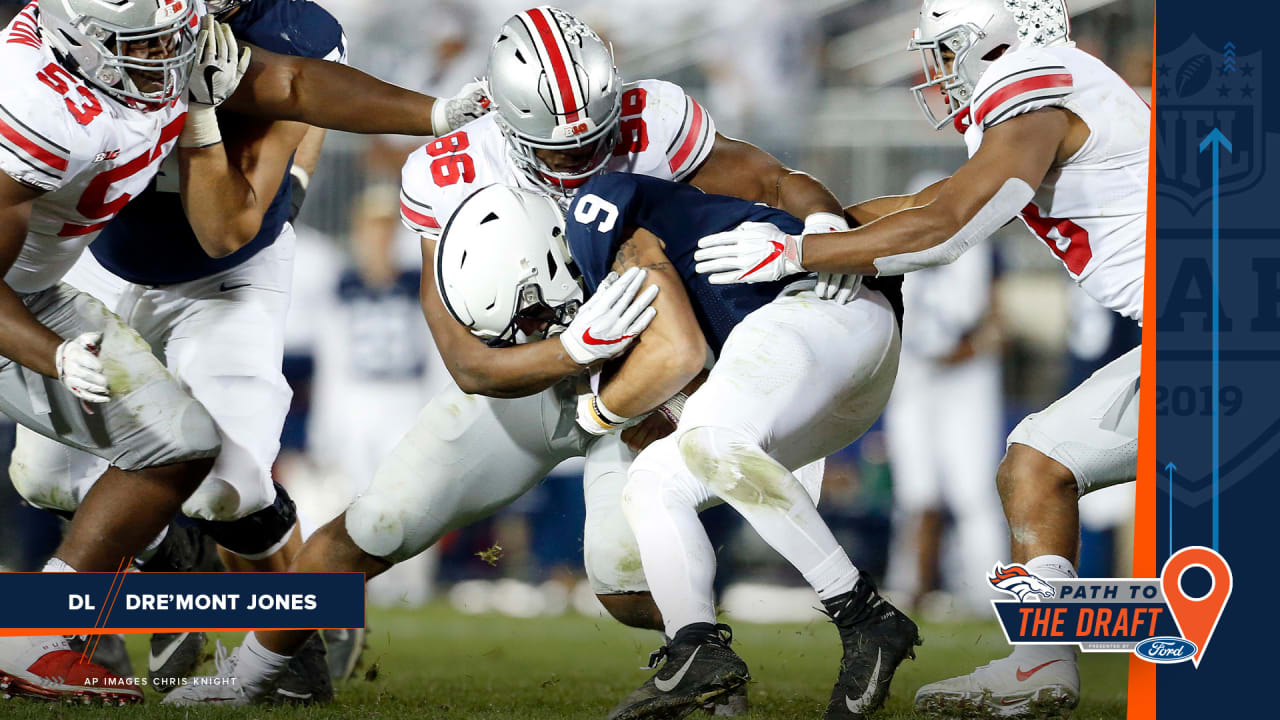
[[[143,111],[54,58],[28,4],[0,33],[0,170],[45,192],[5,282],[49,288],[108,222],[145,190],[182,132],[187,101]]]

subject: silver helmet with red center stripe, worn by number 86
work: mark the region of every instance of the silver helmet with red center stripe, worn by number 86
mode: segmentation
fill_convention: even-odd
[[[512,15],[489,51],[488,82],[511,156],[539,187],[563,193],[609,161],[622,81],[613,50],[582,20],[545,5]],[[570,155],[553,167],[536,150]]]

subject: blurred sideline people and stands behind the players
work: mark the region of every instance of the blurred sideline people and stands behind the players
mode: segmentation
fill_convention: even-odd
[[[321,0],[351,63],[439,96],[484,73],[493,32],[526,3]],[[0,19],[22,3],[0,0]],[[964,160],[906,88],[916,0],[561,3],[613,42],[623,79],[682,85],[717,128],[809,172],[846,202],[900,193]],[[1149,95],[1152,0],[1075,0],[1073,38]],[[404,155],[420,141],[329,133],[298,222],[285,372],[294,388],[278,479],[305,530],[340,511],[447,374],[417,307],[416,238],[398,222]],[[906,283],[902,369],[886,419],[828,460],[819,505],[854,561],[916,611],[989,618],[983,573],[1007,555],[995,468],[1009,429],[1138,342],[1020,224]],[[0,416],[0,468],[13,424]],[[380,605],[448,598],[468,612],[596,612],[582,583],[580,464],[371,587]],[[1128,574],[1133,491],[1083,503],[1084,577]],[[723,509],[704,514],[722,605],[785,620],[800,578]],[[60,520],[0,483],[0,566],[37,569]]]

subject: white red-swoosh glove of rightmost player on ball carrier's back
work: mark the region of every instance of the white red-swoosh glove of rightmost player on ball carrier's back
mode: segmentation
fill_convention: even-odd
[[[790,236],[769,223],[742,223],[698,241],[695,270],[712,284],[765,283],[805,272],[800,265],[804,236]]]

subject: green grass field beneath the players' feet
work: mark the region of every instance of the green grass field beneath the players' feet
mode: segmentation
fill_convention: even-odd
[[[387,720],[576,720],[603,719],[613,705],[644,682],[640,669],[657,635],[612,620],[579,615],[515,620],[461,615],[444,606],[419,611],[370,611],[372,633],[364,669],[338,688],[338,700],[310,708],[163,707],[147,691],[141,707],[73,707],[12,700],[0,717],[88,719],[119,714],[142,719],[387,719]],[[893,680],[893,694],[879,717],[916,717],[915,689],[968,673],[1007,653],[992,624],[925,625],[918,660]],[[232,637],[236,643],[238,637]],[[224,639],[225,642],[225,639]],[[146,667],[146,638],[129,639],[134,667]],[[836,676],[835,628],[748,625],[735,628],[735,648],[751,667],[753,720],[817,720]],[[211,643],[210,643],[211,647]],[[1126,655],[1082,660],[1085,700],[1075,720],[1123,719]],[[207,662],[205,671],[212,670]],[[692,717],[703,717],[696,714]]]

